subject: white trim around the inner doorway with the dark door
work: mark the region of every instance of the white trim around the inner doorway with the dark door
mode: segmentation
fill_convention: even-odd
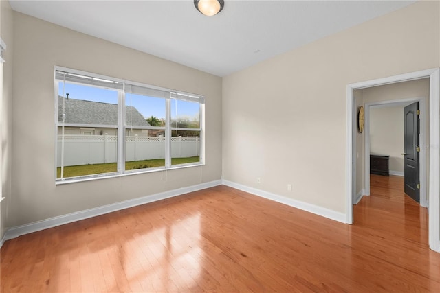
[[[383,108],[387,106],[408,106],[414,102],[419,102],[420,111],[420,205],[422,207],[428,207],[428,201],[426,200],[426,187],[428,186],[428,180],[426,177],[426,97],[414,97],[409,99],[394,99],[390,101],[370,102],[365,104],[365,194],[370,195],[370,110],[371,108]],[[402,152],[403,152],[402,145]]]

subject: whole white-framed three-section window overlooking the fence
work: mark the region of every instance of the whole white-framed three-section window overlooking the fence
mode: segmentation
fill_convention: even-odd
[[[203,163],[204,98],[56,67],[56,181]]]

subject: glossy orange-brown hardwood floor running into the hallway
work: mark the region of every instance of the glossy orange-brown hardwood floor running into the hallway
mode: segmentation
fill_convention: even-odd
[[[1,292],[440,292],[400,177],[371,176],[354,215],[213,187],[5,242]]]

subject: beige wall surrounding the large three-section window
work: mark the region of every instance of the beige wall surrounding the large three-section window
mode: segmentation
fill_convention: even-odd
[[[55,185],[54,66],[206,97],[206,165]],[[8,226],[221,179],[221,78],[14,12]]]

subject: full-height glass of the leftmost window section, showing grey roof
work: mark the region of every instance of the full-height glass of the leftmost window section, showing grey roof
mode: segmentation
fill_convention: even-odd
[[[117,171],[118,91],[58,83],[56,178]]]

